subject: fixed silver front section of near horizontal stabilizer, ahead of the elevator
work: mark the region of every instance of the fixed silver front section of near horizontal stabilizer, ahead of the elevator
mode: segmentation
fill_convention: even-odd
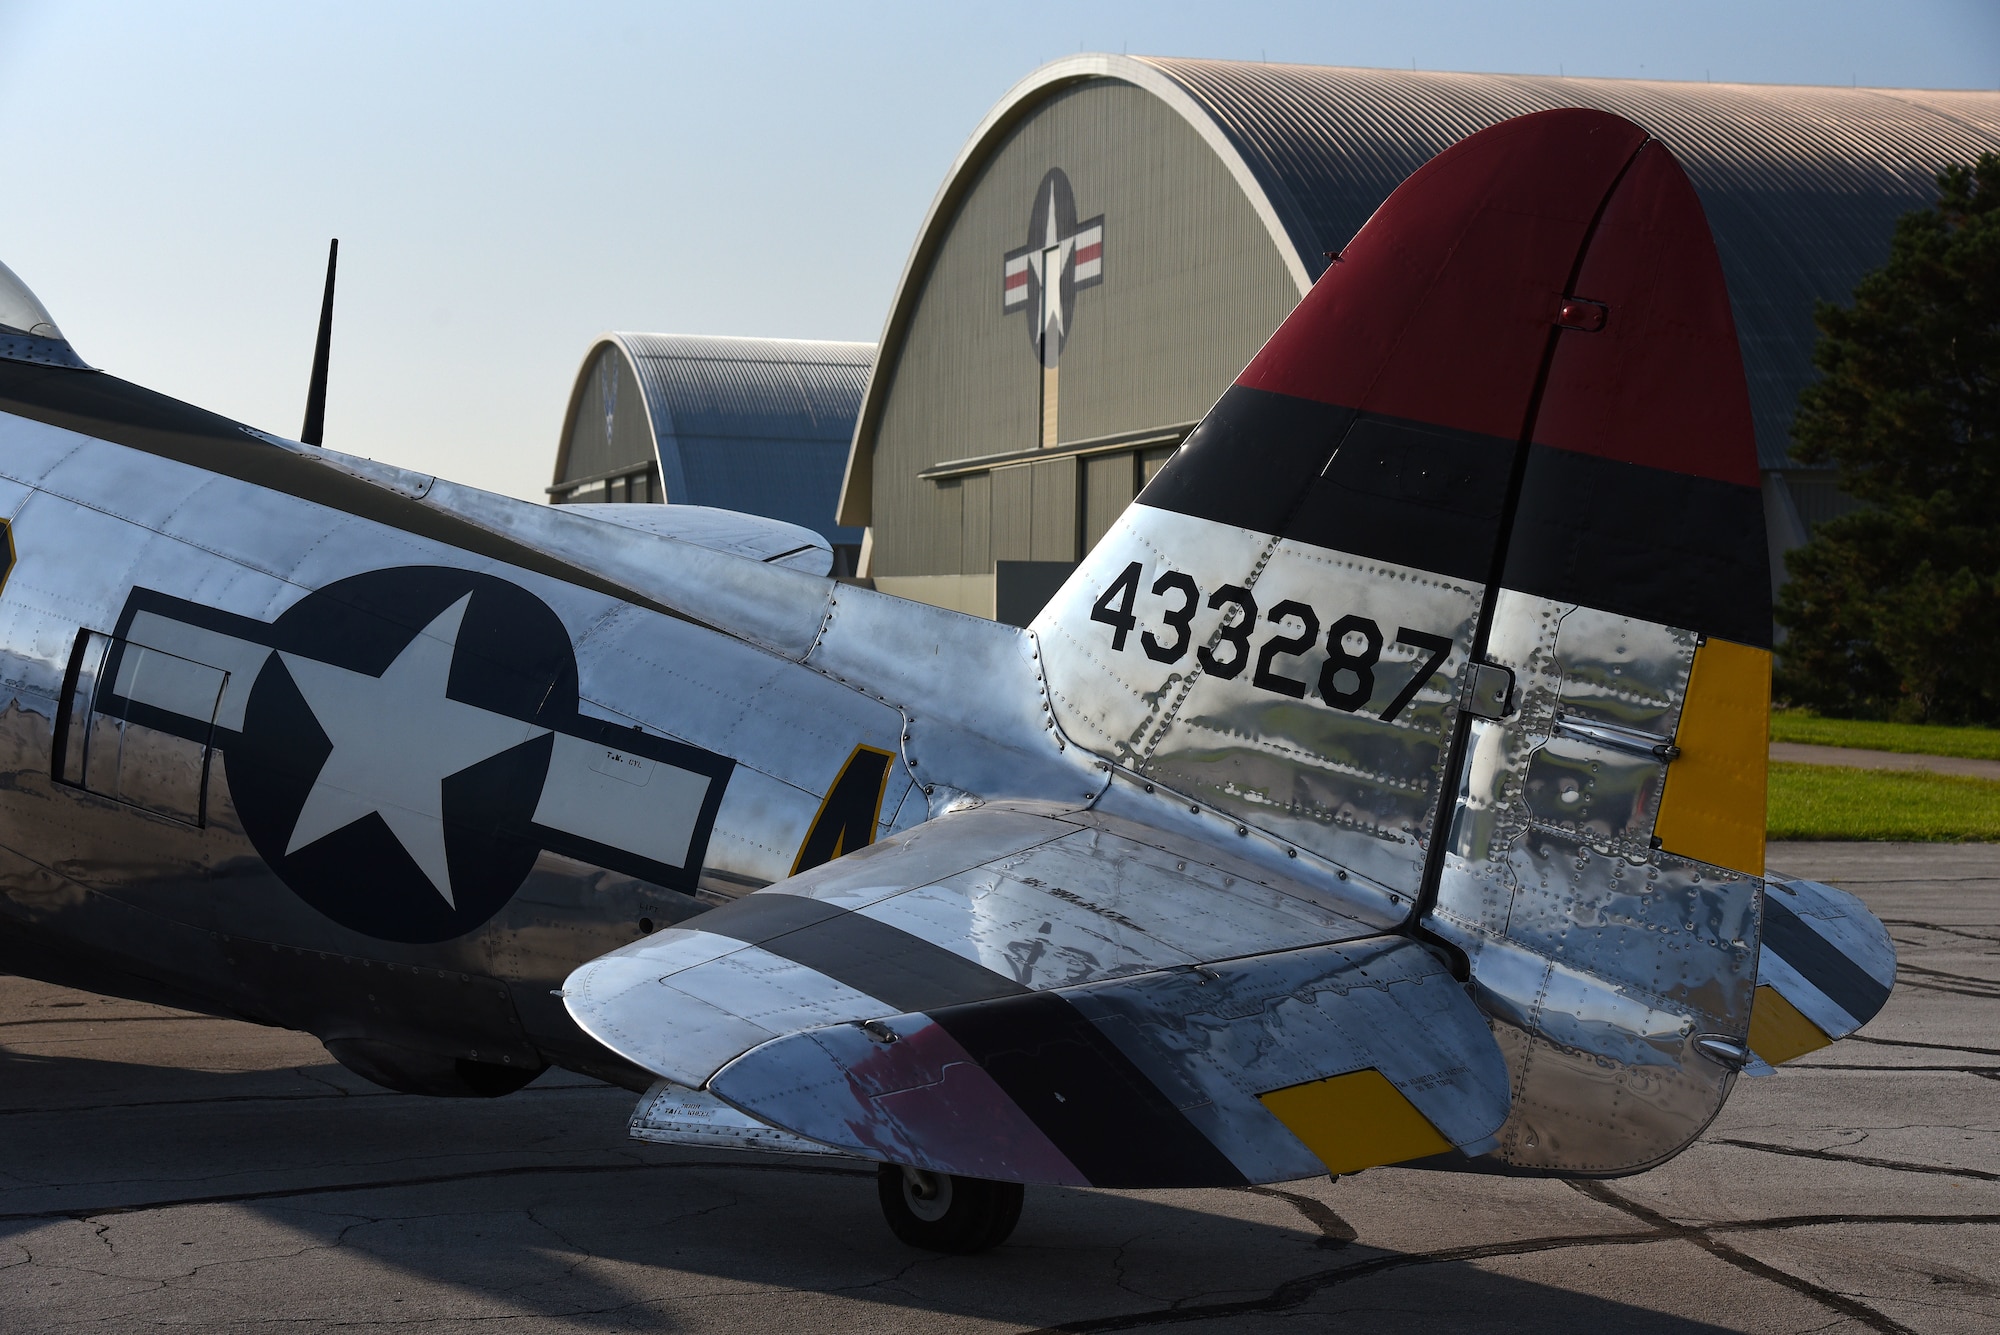
[[[944,815],[594,959],[564,997],[606,1047],[700,1087],[798,1029],[1384,927],[1120,825],[1006,807]]]

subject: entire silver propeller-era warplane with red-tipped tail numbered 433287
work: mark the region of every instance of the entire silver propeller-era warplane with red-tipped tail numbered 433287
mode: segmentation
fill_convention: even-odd
[[[0,967],[622,1081],[946,1251],[1022,1183],[1636,1173],[1888,999],[1764,873],[1748,392],[1630,122],[1418,170],[1026,630],[266,436],[6,278]]]

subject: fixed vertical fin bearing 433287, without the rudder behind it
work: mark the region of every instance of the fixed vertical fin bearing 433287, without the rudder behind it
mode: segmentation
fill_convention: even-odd
[[[1576,276],[1648,144],[1524,116],[1376,210],[1036,618],[1072,739],[1418,891],[1538,414],[1602,314]]]

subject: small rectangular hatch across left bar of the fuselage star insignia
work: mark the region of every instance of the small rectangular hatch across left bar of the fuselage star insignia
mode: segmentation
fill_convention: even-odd
[[[54,779],[206,825],[216,711],[228,679],[210,664],[80,632],[56,715]]]

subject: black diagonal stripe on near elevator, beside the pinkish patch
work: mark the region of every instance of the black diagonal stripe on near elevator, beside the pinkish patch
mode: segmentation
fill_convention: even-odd
[[[1096,1187],[1240,1187],[1244,1175],[1062,997],[932,1011]]]

